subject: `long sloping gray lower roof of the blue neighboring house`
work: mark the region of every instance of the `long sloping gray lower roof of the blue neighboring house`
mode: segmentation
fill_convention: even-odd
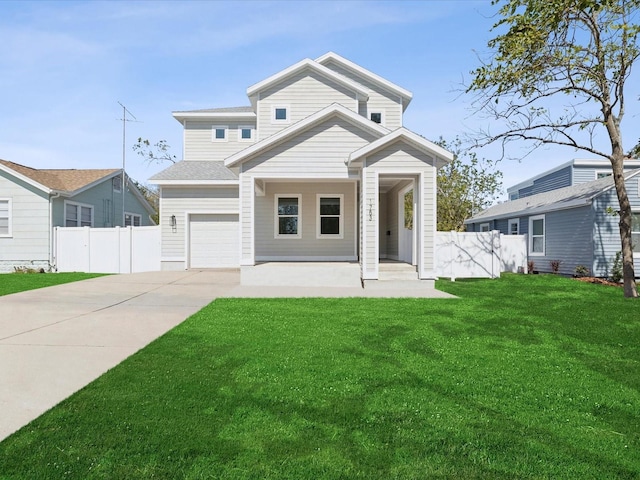
[[[640,169],[625,173],[625,180],[629,180],[640,174]],[[589,205],[594,198],[612,188],[614,188],[613,177],[608,176],[592,182],[579,183],[570,187],[558,188],[549,192],[499,203],[465,220],[464,223],[475,223],[478,221],[516,217],[519,215],[535,215],[554,210],[564,210]]]

